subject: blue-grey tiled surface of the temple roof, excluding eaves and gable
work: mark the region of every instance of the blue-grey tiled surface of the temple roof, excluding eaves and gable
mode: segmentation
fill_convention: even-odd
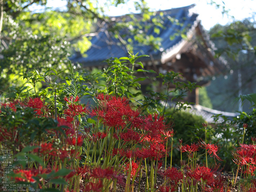
[[[154,27],[148,30],[147,35],[153,35],[154,37],[160,37],[162,39],[162,48],[160,50],[153,50],[151,46],[135,46],[133,51],[140,52],[142,54],[152,55],[154,59],[161,59],[163,50],[170,49],[174,45],[178,44],[182,37],[179,31],[183,31],[185,34],[194,25],[196,21],[197,14],[189,14],[189,9],[195,5],[190,5],[187,7],[173,8],[171,10],[164,10],[163,12],[163,26],[165,28],[159,28],[159,34],[154,33]],[[160,12],[156,12],[155,16],[159,16]],[[135,15],[139,16],[139,14]],[[172,22],[169,18],[174,18],[176,22]],[[177,24],[179,23],[179,24]],[[170,37],[174,37],[170,39]],[[109,59],[110,57],[123,57],[127,56],[127,51],[121,46],[116,45],[118,40],[116,38],[109,37],[106,35],[105,31],[101,31],[97,36],[91,39],[93,46],[86,52],[88,57],[82,57],[80,54],[74,54],[70,59],[72,62],[83,63],[84,66],[95,66],[100,65],[101,61]],[[130,37],[132,38],[132,37]],[[107,42],[114,42],[110,45]],[[150,59],[150,58],[145,58]]]

